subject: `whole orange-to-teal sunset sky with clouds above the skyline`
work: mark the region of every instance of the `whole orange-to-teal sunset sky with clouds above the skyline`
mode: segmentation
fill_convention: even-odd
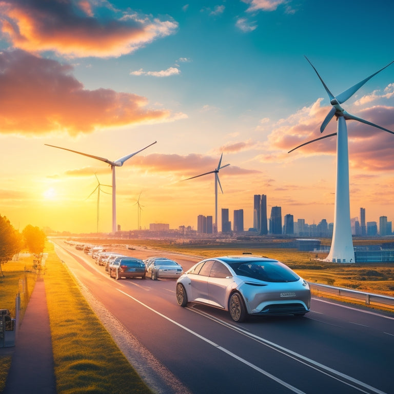
[[[197,227],[253,194],[309,224],[333,221],[336,137],[328,96],[394,60],[391,0],[0,1],[0,215],[22,230],[95,232],[105,157],[156,144],[116,169],[117,224]],[[342,105],[394,131],[394,64]],[[350,214],[394,220],[394,135],[348,121]],[[333,119],[323,135],[336,131]],[[111,231],[111,189],[99,231]],[[221,220],[219,219],[219,230]]]

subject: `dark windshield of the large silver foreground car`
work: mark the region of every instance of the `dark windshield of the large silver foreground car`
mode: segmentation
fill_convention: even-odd
[[[279,261],[248,261],[230,264],[238,275],[264,282],[297,282],[300,277]]]

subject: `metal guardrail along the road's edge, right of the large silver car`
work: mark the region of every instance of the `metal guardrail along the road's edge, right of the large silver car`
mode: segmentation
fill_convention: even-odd
[[[341,300],[358,301],[366,305],[380,306],[394,310],[394,297],[388,297],[388,295],[366,293],[363,291],[322,285],[319,283],[308,282],[308,284],[312,294],[330,295],[331,297]]]

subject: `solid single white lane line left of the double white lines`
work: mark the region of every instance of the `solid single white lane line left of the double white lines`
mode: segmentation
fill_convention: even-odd
[[[120,290],[120,289],[116,289],[116,290],[118,290],[118,291],[120,291],[121,293],[125,294],[127,297],[131,298],[132,300],[134,300],[135,302],[137,302],[137,303],[139,303],[140,305],[144,306],[145,308],[147,308],[147,309],[151,310],[152,312],[158,314],[158,315],[161,316],[162,318],[168,320],[168,321],[171,322],[172,324],[175,324],[176,326],[178,326],[178,327],[184,329],[185,331],[187,331],[187,332],[193,334],[195,337],[197,337],[197,338],[203,340],[204,342],[206,342],[206,343],[208,343],[209,345],[215,347],[216,349],[225,352],[226,354],[228,354],[228,355],[231,356],[232,358],[234,358],[234,359],[236,359],[236,360],[238,360],[238,361],[240,361],[240,362],[246,364],[246,365],[249,366],[250,368],[253,368],[254,370],[256,370],[256,371],[262,373],[262,375],[265,375],[267,378],[272,379],[273,381],[275,381],[275,382],[281,384],[282,386],[285,386],[286,388],[288,388],[289,390],[291,390],[291,391],[293,391],[293,392],[295,392],[295,393],[298,393],[298,394],[306,394],[304,391],[299,390],[297,387],[291,386],[290,384],[284,382],[283,380],[281,380],[281,379],[279,379],[279,378],[277,378],[277,377],[271,375],[269,372],[265,371],[264,369],[259,368],[258,366],[256,366],[256,365],[254,365],[254,364],[252,364],[252,363],[246,361],[245,359],[243,359],[243,358],[237,356],[237,354],[234,354],[234,353],[232,353],[231,351],[227,350],[226,348],[224,348],[224,347],[222,347],[222,346],[220,346],[220,345],[218,345],[218,344],[216,344],[216,343],[210,341],[209,339],[207,339],[207,338],[201,336],[201,335],[198,334],[197,332],[192,331],[191,329],[185,327],[184,325],[182,325],[182,324],[180,324],[180,323],[178,323],[178,322],[175,322],[174,320],[172,320],[172,319],[170,319],[169,317],[165,316],[163,313],[160,313],[159,311],[157,311],[157,310],[151,308],[150,306],[148,306],[148,305],[142,303],[141,301],[137,300],[136,298],[132,297],[132,295],[127,294],[127,293],[125,293],[124,291],[122,291],[122,290]]]

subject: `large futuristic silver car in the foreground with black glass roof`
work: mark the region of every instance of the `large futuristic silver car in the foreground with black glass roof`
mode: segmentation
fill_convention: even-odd
[[[249,314],[304,316],[310,289],[285,264],[255,255],[224,256],[195,264],[176,281],[176,301],[229,311],[243,322]]]

